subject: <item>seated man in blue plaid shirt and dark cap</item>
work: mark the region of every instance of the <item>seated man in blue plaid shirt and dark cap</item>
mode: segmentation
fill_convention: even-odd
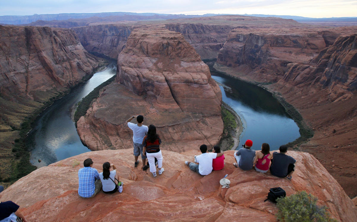
[[[92,198],[102,188],[102,182],[98,171],[92,168],[92,159],[86,159],[83,165],[84,167],[78,170],[78,195],[82,198]]]

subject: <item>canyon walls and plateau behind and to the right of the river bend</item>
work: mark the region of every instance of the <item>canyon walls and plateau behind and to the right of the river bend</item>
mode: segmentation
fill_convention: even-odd
[[[356,61],[354,54],[349,54],[355,47],[353,41],[349,46],[343,46],[345,52],[341,50],[342,55],[339,58],[339,60],[344,60],[344,56],[348,55],[350,64],[341,66],[337,63],[331,69],[332,66],[329,64],[335,63],[334,59],[340,53],[336,50],[333,55],[325,55],[331,58],[323,58],[325,52],[333,53],[332,47],[340,47],[333,46],[338,38],[353,39],[354,34],[357,33],[357,26],[317,26],[274,17],[212,16],[156,22],[93,24],[73,29],[78,33],[88,51],[100,52],[115,58],[116,54],[125,48],[129,31],[136,27],[148,26],[165,27],[182,33],[185,40],[200,54],[201,59],[217,58],[215,65],[217,70],[261,85],[293,105],[305,120],[303,124],[315,131],[315,136],[310,139],[310,142],[304,142],[297,148],[313,153],[340,182],[349,196],[357,195],[352,185],[357,180],[356,168],[353,164],[348,167],[343,166],[345,158],[352,162],[357,157],[354,136],[356,129],[353,127],[356,110],[353,105],[356,94],[356,87],[353,83],[356,80],[354,68]],[[91,30],[99,30],[99,32],[96,34]],[[87,32],[90,35],[86,35]],[[93,38],[98,41],[84,41],[84,39],[90,39],[90,36],[94,36]],[[117,36],[121,36],[121,41],[118,41]],[[110,48],[114,48],[115,52],[110,52]],[[321,58],[322,61],[318,64]],[[320,67],[324,64],[328,65],[328,69]],[[327,75],[326,71],[327,76],[323,77],[319,74],[319,77],[315,77],[315,74],[321,73],[322,69],[330,70],[329,74]],[[302,73],[300,74],[298,70]],[[345,70],[348,76],[344,74]],[[333,74],[336,71],[340,74]],[[312,81],[313,79],[315,82]],[[319,79],[318,82],[316,82],[317,79]],[[345,80],[348,80],[348,83]],[[342,105],[336,107],[335,102],[338,101]],[[348,108],[345,109],[343,106],[347,104]],[[321,110],[321,105],[335,112],[330,114]],[[319,117],[318,120],[316,117]],[[332,134],[332,127],[335,125],[340,126],[340,132]],[[346,130],[343,129],[344,126]],[[321,135],[317,136],[320,133]],[[340,135],[338,139],[342,139],[345,145],[331,143],[337,135]],[[323,140],[324,137],[331,137],[331,140]],[[311,145],[311,141],[315,138],[318,138],[318,141]],[[311,146],[319,148],[306,149]]]

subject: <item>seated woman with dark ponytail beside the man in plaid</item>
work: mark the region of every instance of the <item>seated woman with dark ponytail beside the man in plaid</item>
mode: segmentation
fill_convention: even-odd
[[[110,171],[110,168],[113,168]],[[114,164],[109,162],[103,163],[103,172],[99,173],[99,178],[102,181],[102,190],[104,193],[115,193],[118,190],[116,184],[119,183],[119,174],[116,172]],[[117,182],[115,182],[115,180]]]

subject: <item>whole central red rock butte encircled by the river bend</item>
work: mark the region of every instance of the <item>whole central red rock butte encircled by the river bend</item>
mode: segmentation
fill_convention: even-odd
[[[118,56],[116,80],[105,87],[77,131],[91,150],[132,147],[125,120],[144,115],[154,124],[162,149],[181,152],[215,145],[223,131],[221,91],[208,66],[182,34],[136,29]]]

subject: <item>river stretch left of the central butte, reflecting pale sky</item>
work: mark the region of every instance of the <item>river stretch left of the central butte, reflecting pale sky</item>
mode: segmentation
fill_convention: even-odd
[[[34,127],[26,137],[32,165],[47,166],[90,151],[78,136],[72,119],[73,111],[83,97],[115,74],[115,64],[109,65],[106,70],[95,73],[90,80],[56,100],[36,118]],[[38,162],[39,159],[42,161]]]

